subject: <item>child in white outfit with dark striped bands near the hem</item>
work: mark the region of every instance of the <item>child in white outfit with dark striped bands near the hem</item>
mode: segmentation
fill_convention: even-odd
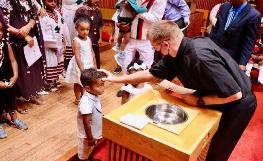
[[[55,10],[57,0],[43,0],[46,6],[47,16],[40,17],[44,40],[55,39],[58,48],[45,48],[47,64],[47,88],[51,92],[59,92],[63,86],[59,82],[59,75],[64,72],[63,52],[66,48],[65,38],[61,29],[61,17]]]

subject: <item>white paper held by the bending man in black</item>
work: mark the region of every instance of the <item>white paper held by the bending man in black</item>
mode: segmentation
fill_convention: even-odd
[[[192,94],[194,92],[196,92],[197,90],[192,90],[192,89],[188,89],[188,88],[184,88],[184,87],[181,87],[181,86],[178,86],[168,80],[163,80],[161,83],[158,83],[158,85],[164,87],[164,88],[167,88],[171,91],[174,91],[176,93],[179,93],[179,94]]]

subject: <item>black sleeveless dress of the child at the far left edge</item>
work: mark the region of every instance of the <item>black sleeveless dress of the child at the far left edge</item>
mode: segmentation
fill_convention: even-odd
[[[13,69],[11,66],[11,61],[9,59],[8,45],[4,40],[0,40],[0,81],[5,82],[13,77]],[[0,115],[3,111],[8,113],[11,109],[13,112],[16,109],[16,88],[0,89]]]

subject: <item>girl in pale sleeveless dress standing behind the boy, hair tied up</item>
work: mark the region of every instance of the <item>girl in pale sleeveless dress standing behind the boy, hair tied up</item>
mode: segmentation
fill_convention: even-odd
[[[92,28],[92,20],[90,17],[80,15],[76,21],[77,37],[73,39],[74,56],[69,62],[66,71],[66,83],[74,83],[75,104],[78,105],[81,96],[84,94],[84,88],[80,82],[80,75],[84,69],[97,68],[95,54],[92,49],[91,39],[88,37]]]

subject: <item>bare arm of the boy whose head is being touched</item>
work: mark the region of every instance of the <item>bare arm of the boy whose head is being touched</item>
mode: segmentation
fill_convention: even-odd
[[[82,121],[84,124],[84,129],[86,136],[88,138],[88,146],[94,146],[96,139],[93,138],[92,131],[91,131],[91,126],[90,126],[90,119],[91,119],[91,114],[83,114],[82,115]]]

